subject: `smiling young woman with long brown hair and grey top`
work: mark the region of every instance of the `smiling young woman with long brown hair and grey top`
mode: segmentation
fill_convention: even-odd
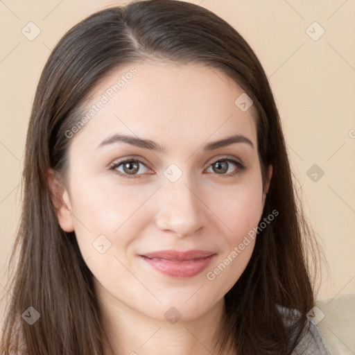
[[[16,247],[1,354],[329,354],[268,80],[200,6],[136,1],[60,40]]]

